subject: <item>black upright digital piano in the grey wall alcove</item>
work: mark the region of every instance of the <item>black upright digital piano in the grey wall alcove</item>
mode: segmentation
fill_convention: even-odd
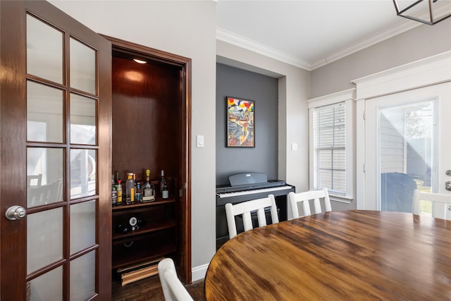
[[[295,186],[289,185],[283,180],[266,180],[262,183],[253,183],[254,173],[243,173],[242,175],[243,177],[245,175],[246,178],[241,180],[241,174],[234,175],[233,183],[235,185],[219,185],[216,187],[216,249],[228,240],[225,208],[227,203],[237,204],[273,194],[276,197],[279,221],[287,220],[287,195],[290,192],[295,192]],[[261,175],[258,175],[257,178],[261,180]],[[240,185],[241,183],[245,184]],[[239,220],[237,220],[237,227],[240,230]]]

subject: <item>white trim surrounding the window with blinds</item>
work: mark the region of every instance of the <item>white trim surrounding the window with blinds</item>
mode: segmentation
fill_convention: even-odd
[[[309,189],[314,190],[314,109],[321,106],[328,106],[330,104],[345,103],[345,139],[346,139],[346,194],[334,195],[330,193],[330,199],[335,202],[343,202],[350,204],[355,195],[355,89],[344,90],[333,94],[328,94],[322,97],[309,99]]]

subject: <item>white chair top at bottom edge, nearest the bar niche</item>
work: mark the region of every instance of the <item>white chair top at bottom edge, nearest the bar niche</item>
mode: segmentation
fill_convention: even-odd
[[[190,293],[177,276],[171,258],[162,259],[158,264],[158,273],[166,301],[192,301]]]

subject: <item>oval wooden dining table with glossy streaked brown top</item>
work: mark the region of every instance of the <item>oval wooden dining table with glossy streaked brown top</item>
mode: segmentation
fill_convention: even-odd
[[[330,211],[228,240],[206,300],[451,300],[451,221]]]

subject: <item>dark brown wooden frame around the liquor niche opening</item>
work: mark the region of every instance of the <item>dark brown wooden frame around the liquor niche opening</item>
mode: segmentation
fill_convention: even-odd
[[[170,54],[166,51],[145,47],[140,44],[117,39],[108,35],[102,35],[111,42],[112,51],[123,51],[129,54],[139,54],[141,57],[148,57],[165,64],[180,67],[180,107],[183,149],[180,150],[179,161],[182,162],[180,168],[180,202],[178,204],[178,212],[180,213],[178,222],[178,233],[180,241],[178,245],[178,258],[175,262],[178,264],[178,275],[184,283],[191,283],[191,59],[176,54]]]

